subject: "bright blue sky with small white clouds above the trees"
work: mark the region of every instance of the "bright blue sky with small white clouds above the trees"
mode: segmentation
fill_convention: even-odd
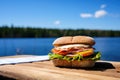
[[[0,26],[120,30],[120,0],[0,0]]]

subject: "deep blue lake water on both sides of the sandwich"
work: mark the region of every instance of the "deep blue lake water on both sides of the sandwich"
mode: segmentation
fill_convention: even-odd
[[[56,38],[1,38],[0,56],[16,54],[47,55]],[[96,51],[102,53],[101,60],[120,61],[120,37],[95,38]]]

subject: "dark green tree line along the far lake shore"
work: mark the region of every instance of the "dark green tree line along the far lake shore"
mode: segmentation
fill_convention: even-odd
[[[50,29],[0,26],[0,38],[39,38],[87,35],[91,37],[120,37],[120,30]]]

